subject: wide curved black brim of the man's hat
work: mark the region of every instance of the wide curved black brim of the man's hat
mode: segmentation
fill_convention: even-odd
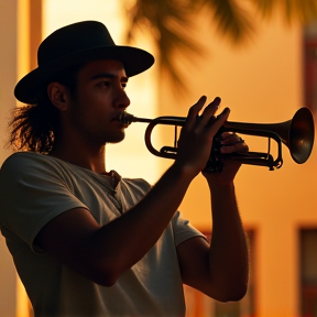
[[[136,47],[117,45],[84,50],[33,69],[17,84],[14,96],[21,102],[36,103],[37,95],[43,89],[43,84],[48,84],[48,80],[54,75],[76,64],[96,59],[121,61],[128,77],[138,75],[154,64],[153,55]]]

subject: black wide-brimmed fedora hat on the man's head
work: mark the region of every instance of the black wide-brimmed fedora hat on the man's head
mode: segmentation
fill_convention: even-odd
[[[24,103],[36,103],[39,90],[54,75],[76,64],[99,58],[121,61],[128,77],[146,70],[154,63],[154,57],[143,50],[116,45],[102,23],[78,22],[56,30],[41,43],[39,67],[17,84],[14,96]]]

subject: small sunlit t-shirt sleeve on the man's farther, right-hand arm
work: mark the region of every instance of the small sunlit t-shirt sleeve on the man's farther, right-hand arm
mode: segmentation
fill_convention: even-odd
[[[194,237],[203,237],[207,240],[206,236],[203,234],[199,230],[194,228],[188,220],[183,219],[181,217],[181,212],[176,211],[172,219],[173,232],[175,245],[177,247],[182,242],[194,238]]]

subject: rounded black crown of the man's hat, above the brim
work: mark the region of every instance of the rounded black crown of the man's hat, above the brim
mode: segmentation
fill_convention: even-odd
[[[61,57],[98,46],[116,46],[107,28],[97,21],[85,21],[64,26],[47,36],[39,47],[39,66]]]

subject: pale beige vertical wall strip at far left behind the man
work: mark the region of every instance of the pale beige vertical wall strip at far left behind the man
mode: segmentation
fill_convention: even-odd
[[[3,147],[8,141],[7,120],[9,118],[9,109],[15,105],[12,87],[17,80],[17,1],[0,1],[0,164],[9,155],[9,151]],[[3,32],[4,30],[6,32]],[[15,315],[15,284],[17,274],[12,258],[1,236],[0,316],[9,317]]]

